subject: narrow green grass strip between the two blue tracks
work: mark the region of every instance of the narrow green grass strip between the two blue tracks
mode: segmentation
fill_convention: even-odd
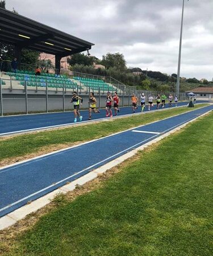
[[[199,104],[196,108],[201,108],[208,104]],[[0,139],[0,161],[7,158],[15,158],[31,153],[40,152],[43,147],[59,144],[68,146],[77,142],[90,141],[91,139],[105,137],[106,135],[123,131],[131,127],[144,125],[145,123],[157,121],[172,115],[190,111],[189,108],[168,109],[165,111],[136,115],[135,117],[114,119],[111,122],[93,123],[90,125],[70,127],[66,129],[42,131],[35,134],[19,135],[13,138]],[[70,113],[73,116],[73,113]],[[65,147],[66,145],[64,145]],[[53,151],[53,148],[52,150]]]

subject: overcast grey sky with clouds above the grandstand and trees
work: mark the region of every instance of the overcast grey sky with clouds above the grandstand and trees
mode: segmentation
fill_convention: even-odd
[[[19,14],[85,39],[91,55],[123,53],[128,67],[177,73],[182,0],[6,0]],[[213,0],[185,0],[182,77],[212,80]]]

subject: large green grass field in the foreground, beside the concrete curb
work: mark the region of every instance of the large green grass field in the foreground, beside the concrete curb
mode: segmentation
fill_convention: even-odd
[[[66,197],[2,255],[212,255],[213,113]],[[1,251],[0,251],[1,252]]]

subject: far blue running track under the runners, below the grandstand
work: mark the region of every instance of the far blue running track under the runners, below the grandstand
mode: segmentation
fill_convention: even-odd
[[[208,101],[197,101],[197,103],[206,103]],[[187,102],[178,102],[178,106],[186,106]],[[174,104],[173,104],[174,107]],[[166,104],[168,108],[168,104]],[[153,110],[156,106],[153,107]],[[132,114],[131,107],[120,108],[120,115]],[[100,114],[92,114],[93,120],[106,119],[106,112],[104,109],[100,110]],[[141,111],[141,106],[136,110],[136,113]],[[144,109],[144,112],[148,111],[148,107]],[[152,110],[151,110],[152,111]],[[112,110],[114,114],[114,110]],[[88,119],[88,110],[82,110],[81,115],[83,122]],[[116,117],[115,117],[116,118]],[[13,115],[0,117],[0,136],[11,135],[15,133],[24,133],[27,131],[34,131],[40,129],[47,129],[51,127],[60,127],[74,124],[74,115],[72,112],[59,112],[59,113],[47,113],[47,114],[29,114],[29,115]],[[78,122],[77,122],[78,123]]]

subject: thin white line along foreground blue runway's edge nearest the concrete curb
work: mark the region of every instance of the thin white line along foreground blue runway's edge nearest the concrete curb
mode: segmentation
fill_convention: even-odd
[[[157,134],[157,135],[158,135],[158,134]],[[20,202],[22,202],[22,201],[24,201],[24,200],[30,198],[31,196],[35,196],[35,195],[39,194],[40,192],[43,192],[43,191],[47,190],[48,188],[55,187],[57,184],[60,184],[60,183],[62,183],[62,182],[64,182],[64,181],[70,179],[71,177],[77,176],[78,174],[81,174],[82,172],[85,172],[85,171],[87,171],[87,170],[90,170],[91,168],[93,168],[93,167],[95,167],[95,166],[98,166],[98,164],[101,164],[101,163],[103,163],[103,162],[106,162],[107,160],[110,160],[111,158],[114,158],[115,156],[120,155],[120,154],[122,154],[123,152],[126,152],[126,151],[128,151],[128,150],[131,150],[131,148],[136,147],[136,146],[139,146],[140,144],[142,144],[142,143],[144,143],[144,142],[147,142],[147,141],[153,139],[154,137],[157,137],[157,135],[154,135],[154,136],[152,136],[152,137],[150,137],[150,138],[148,138],[148,139],[145,139],[145,141],[141,141],[141,142],[139,142],[139,143],[137,143],[137,144],[135,144],[135,145],[133,145],[133,146],[131,146],[131,147],[129,147],[129,148],[126,148],[125,150],[120,151],[120,152],[118,152],[118,153],[116,153],[116,154],[114,154],[114,155],[112,155],[112,156],[110,156],[110,157],[108,157],[108,158],[106,158],[106,159],[103,159],[102,161],[100,161],[100,162],[98,162],[98,163],[95,163],[95,164],[93,164],[92,166],[89,166],[89,167],[87,167],[87,168],[81,170],[80,172],[77,172],[76,174],[70,175],[69,177],[66,177],[65,179],[62,179],[62,180],[60,180],[60,181],[57,181],[55,184],[49,185],[48,187],[45,187],[45,188],[43,188],[43,189],[41,189],[41,190],[39,190],[39,191],[37,191],[37,192],[35,192],[35,193],[32,193],[31,195],[26,196],[26,197],[24,197],[23,199],[20,199],[20,200],[18,200],[18,201],[15,201],[14,203],[9,204],[9,205],[7,205],[6,207],[1,208],[1,209],[0,209],[0,212],[2,212],[3,210],[6,210],[7,208],[12,207],[13,205],[16,205],[16,204],[18,204],[18,203],[20,203]]]

